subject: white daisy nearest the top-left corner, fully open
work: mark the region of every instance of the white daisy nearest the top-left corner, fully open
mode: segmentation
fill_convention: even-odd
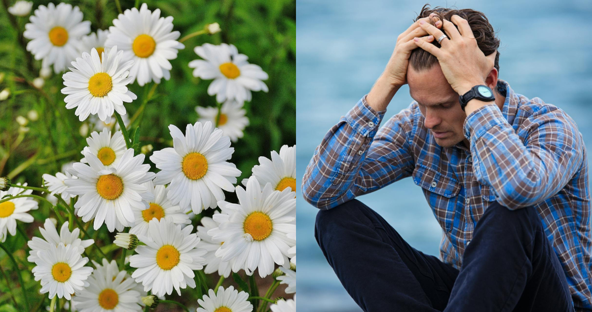
[[[60,3],[40,5],[29,18],[22,35],[30,39],[27,51],[31,51],[41,67],[53,65],[56,73],[66,69],[78,56],[80,38],[91,32],[91,22],[82,21],[78,6]]]

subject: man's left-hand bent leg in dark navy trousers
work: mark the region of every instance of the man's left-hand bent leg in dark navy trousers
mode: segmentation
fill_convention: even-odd
[[[314,236],[364,311],[442,311],[458,270],[417,251],[359,200],[318,212]]]

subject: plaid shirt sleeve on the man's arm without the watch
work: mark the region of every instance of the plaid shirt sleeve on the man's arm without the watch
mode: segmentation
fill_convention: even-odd
[[[327,132],[304,174],[307,202],[330,209],[410,175],[413,113],[401,111],[378,131],[384,113],[374,111],[364,96]]]

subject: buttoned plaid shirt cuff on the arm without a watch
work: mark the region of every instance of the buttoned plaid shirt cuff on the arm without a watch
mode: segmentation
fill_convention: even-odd
[[[345,120],[359,134],[364,137],[373,138],[378,130],[378,125],[384,117],[384,111],[377,112],[368,105],[366,96],[358,101],[356,106],[345,115]]]

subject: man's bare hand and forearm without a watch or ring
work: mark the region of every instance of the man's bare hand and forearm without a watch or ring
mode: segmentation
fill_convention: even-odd
[[[409,56],[411,55],[411,50],[419,47],[417,42],[413,41],[413,38],[421,37],[420,40],[426,41],[426,44],[434,40],[434,37],[429,35],[419,24],[420,21],[424,21],[430,25],[430,22],[435,22],[435,19],[433,20],[432,18],[433,15],[418,19],[397,37],[397,44],[390,60],[388,60],[387,67],[374,86],[372,86],[372,90],[370,90],[368,96],[366,96],[366,102],[375,111],[384,111],[388,103],[391,102],[392,97],[397,93],[397,90],[407,84]],[[437,27],[442,27],[442,23],[440,22]]]

